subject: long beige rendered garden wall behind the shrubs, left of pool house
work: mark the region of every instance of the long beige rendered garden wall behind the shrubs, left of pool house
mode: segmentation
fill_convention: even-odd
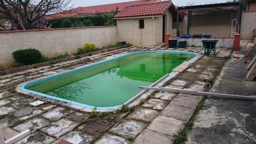
[[[85,43],[102,47],[117,41],[116,26],[0,31],[0,67],[12,65],[11,53],[19,49],[31,47],[48,57],[57,57],[66,51],[71,54]]]

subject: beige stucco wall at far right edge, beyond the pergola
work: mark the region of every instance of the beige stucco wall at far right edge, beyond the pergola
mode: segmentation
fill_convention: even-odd
[[[243,12],[241,24],[241,39],[250,39],[256,29],[256,11]]]

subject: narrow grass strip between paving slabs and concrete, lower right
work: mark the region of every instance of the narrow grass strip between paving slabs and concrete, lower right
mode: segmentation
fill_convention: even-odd
[[[199,111],[202,110],[202,108],[205,106],[206,99],[207,99],[207,96],[203,96],[202,100],[198,103],[189,121],[185,124],[184,129],[183,130],[180,129],[180,131],[178,132],[178,135],[175,136],[175,138],[172,140],[173,144],[182,144],[187,140],[186,134],[188,131],[192,130],[194,126],[195,117],[199,113]]]

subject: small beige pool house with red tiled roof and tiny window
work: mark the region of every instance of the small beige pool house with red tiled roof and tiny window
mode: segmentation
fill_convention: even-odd
[[[178,14],[182,22],[182,16]],[[118,40],[133,45],[152,46],[164,42],[164,34],[172,33],[177,11],[171,1],[126,6],[114,19],[117,20]]]

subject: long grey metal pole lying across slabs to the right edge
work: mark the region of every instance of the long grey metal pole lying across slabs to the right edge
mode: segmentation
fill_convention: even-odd
[[[235,98],[235,99],[256,101],[256,97],[209,93],[209,92],[202,92],[202,91],[196,91],[196,90],[190,90],[190,89],[169,88],[169,87],[160,87],[160,88],[158,88],[158,87],[146,87],[146,86],[138,86],[138,88],[150,89],[150,90],[155,90],[155,91],[172,92],[172,93],[181,93],[181,94],[191,94],[191,95],[200,95],[200,96],[205,96],[206,95],[206,96],[214,96],[214,97]]]

